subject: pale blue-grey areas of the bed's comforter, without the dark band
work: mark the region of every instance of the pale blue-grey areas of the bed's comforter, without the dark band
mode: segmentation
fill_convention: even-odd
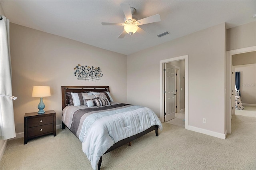
[[[68,128],[71,129],[74,113],[81,108],[85,108],[85,106],[64,108],[62,121]],[[68,114],[68,110],[71,113]],[[86,113],[80,119],[76,136],[82,141],[82,149],[90,160],[92,168],[96,170],[100,157],[114,143],[154,125],[158,125],[158,128],[162,130],[160,120],[151,109],[129,105],[96,111],[96,113],[90,112],[89,115]]]

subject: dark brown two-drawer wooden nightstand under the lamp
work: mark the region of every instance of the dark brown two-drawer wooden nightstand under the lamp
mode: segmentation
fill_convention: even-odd
[[[46,134],[56,136],[56,112],[45,111],[44,114],[37,112],[26,113],[24,116],[24,144],[27,144],[28,139]]]

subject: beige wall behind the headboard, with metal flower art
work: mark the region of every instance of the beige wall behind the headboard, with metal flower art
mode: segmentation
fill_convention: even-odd
[[[57,112],[61,124],[61,86],[110,86],[114,101],[126,103],[126,55],[55,36],[24,26],[10,24],[12,94],[16,133],[24,131],[24,114],[38,111],[39,98],[31,97],[33,86],[50,86],[44,97],[44,110]],[[100,67],[100,81],[78,81],[76,65]]]

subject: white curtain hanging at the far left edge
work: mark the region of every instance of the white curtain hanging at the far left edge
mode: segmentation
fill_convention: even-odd
[[[14,138],[9,20],[0,16],[0,139]]]

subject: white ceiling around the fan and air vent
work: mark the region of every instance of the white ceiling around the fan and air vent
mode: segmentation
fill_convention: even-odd
[[[256,1],[205,0],[1,0],[10,22],[129,55],[176,38],[226,22],[227,29],[249,22],[256,14]],[[136,8],[136,17],[160,14],[161,21],[140,28],[150,33],[118,36],[123,26],[101,22],[124,22],[120,3]],[[158,38],[163,32],[170,34]]]

